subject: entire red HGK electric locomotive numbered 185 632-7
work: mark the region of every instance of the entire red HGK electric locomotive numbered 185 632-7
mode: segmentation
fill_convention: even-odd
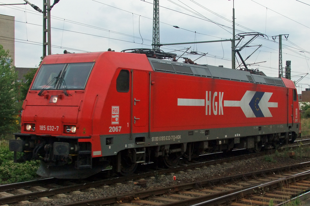
[[[85,178],[108,165],[129,175],[139,163],[174,167],[204,151],[259,151],[300,135],[292,81],[147,54],[45,57],[10,140],[15,162],[39,159],[45,177]]]

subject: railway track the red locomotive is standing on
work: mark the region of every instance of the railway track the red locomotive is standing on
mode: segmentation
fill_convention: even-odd
[[[308,140],[309,141],[309,140]],[[194,168],[199,168],[203,166],[215,165],[223,162],[235,161],[243,158],[250,158],[258,155],[264,155],[266,153],[270,153],[270,150],[261,152],[261,153],[252,153],[246,155],[240,155],[238,157],[230,157],[219,160],[212,160],[206,162],[188,162],[188,164],[183,164],[182,166],[173,168],[173,169],[162,169],[157,170],[156,174],[167,174],[167,173],[176,173],[178,171],[190,170]],[[154,176],[155,170],[151,170],[142,174],[136,174],[130,177],[114,177],[108,179],[100,179],[96,181],[90,180],[60,180],[60,179],[42,179],[29,181],[24,183],[15,183],[9,185],[0,186],[0,205],[1,204],[11,204],[21,201],[29,201],[34,198],[46,198],[52,195],[62,196],[60,194],[80,191],[84,189],[89,189],[93,187],[104,187],[104,185],[110,185],[115,183],[122,183],[126,181],[130,181],[132,179],[137,180],[141,178],[147,178]],[[78,193],[78,192],[76,192]],[[124,205],[125,206],[125,205]]]

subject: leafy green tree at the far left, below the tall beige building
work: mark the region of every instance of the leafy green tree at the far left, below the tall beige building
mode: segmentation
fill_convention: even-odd
[[[18,128],[18,88],[17,74],[9,51],[0,44],[0,137],[15,132]]]

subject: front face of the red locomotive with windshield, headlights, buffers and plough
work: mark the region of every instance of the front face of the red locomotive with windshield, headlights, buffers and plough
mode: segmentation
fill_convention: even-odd
[[[23,104],[21,133],[10,140],[10,150],[23,153],[15,162],[41,160],[37,173],[57,178],[83,178],[108,165],[92,161],[91,116],[85,115],[95,57],[42,61]]]

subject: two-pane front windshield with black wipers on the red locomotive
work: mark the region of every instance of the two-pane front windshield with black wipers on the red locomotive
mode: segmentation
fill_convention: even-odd
[[[32,90],[85,89],[94,62],[42,65]]]

